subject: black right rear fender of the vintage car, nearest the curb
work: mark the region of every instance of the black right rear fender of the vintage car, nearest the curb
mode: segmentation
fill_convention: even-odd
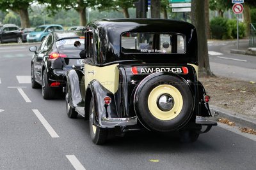
[[[205,103],[204,101],[204,96],[206,95],[206,91],[200,81],[197,82],[197,89],[198,89],[199,110],[196,115],[200,117],[212,117],[209,104]]]

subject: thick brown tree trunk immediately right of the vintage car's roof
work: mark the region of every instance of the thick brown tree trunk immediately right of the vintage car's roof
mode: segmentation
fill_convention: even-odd
[[[191,1],[191,21],[195,25],[198,38],[199,74],[212,76],[208,55],[207,38],[205,32],[205,1]]]

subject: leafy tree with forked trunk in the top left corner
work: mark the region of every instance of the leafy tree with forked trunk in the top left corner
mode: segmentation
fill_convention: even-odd
[[[12,10],[19,14],[21,27],[30,27],[28,8],[35,0],[0,1],[0,10]]]

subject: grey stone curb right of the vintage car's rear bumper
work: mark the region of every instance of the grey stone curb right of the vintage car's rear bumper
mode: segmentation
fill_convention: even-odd
[[[256,129],[256,118],[246,117],[234,111],[218,108],[217,106],[210,106],[212,115],[218,113],[219,117],[227,118],[231,122],[234,122],[238,127],[249,127]]]

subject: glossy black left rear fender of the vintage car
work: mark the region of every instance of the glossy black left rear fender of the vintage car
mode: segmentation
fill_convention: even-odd
[[[104,97],[110,97],[111,103],[105,104]],[[112,92],[100,85],[99,81],[93,80],[86,89],[85,111],[89,113],[90,99],[93,97],[95,118],[94,124],[98,127],[106,128],[101,124],[102,118],[119,118],[120,114],[116,110],[116,99]]]

